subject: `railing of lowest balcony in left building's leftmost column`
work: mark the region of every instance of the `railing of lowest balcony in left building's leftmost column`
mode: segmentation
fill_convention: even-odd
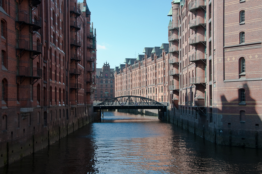
[[[42,68],[16,67],[17,76],[42,78]]]

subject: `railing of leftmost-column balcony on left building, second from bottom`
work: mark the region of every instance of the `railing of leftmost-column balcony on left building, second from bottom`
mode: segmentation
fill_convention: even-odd
[[[38,51],[42,52],[42,44],[36,41],[28,41],[25,39],[17,39],[16,40],[16,48],[17,49],[26,49],[29,51]]]

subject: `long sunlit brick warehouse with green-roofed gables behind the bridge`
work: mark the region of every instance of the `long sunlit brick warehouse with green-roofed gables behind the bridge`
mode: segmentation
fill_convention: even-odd
[[[115,68],[115,96],[136,95],[169,102],[169,45],[146,47],[137,59],[126,58]]]

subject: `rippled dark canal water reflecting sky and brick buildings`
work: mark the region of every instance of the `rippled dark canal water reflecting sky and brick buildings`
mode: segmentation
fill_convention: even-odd
[[[104,115],[0,173],[262,173],[262,150],[215,145],[157,117]]]

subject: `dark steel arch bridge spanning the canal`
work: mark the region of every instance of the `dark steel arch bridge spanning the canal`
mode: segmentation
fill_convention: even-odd
[[[166,110],[167,106],[155,100],[140,96],[121,96],[106,100],[96,106],[94,110],[101,109],[161,109]]]

